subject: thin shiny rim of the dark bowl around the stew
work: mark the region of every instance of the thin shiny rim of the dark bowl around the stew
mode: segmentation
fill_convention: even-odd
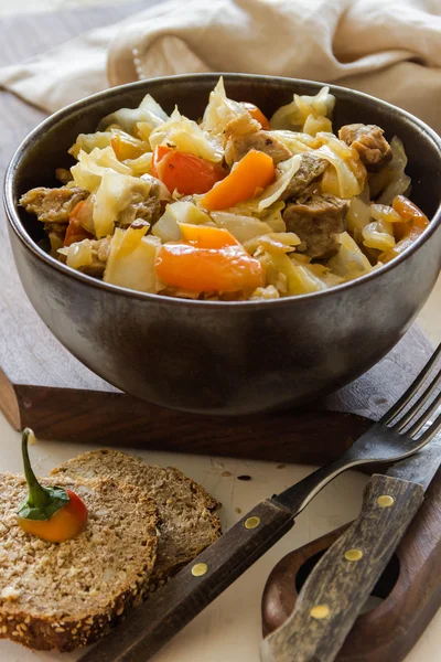
[[[73,104],[69,104],[68,106],[65,106],[64,108],[53,113],[47,118],[43,119],[43,121],[41,121],[34,129],[32,129],[32,131],[30,131],[25,136],[25,138],[20,142],[20,145],[17,148],[15,152],[13,153],[13,156],[9,162],[8,169],[6,171],[4,182],[3,182],[3,204],[4,204],[6,215],[7,215],[9,225],[13,229],[13,232],[15,233],[18,238],[21,241],[21,243],[25,246],[25,248],[28,250],[30,250],[31,253],[33,253],[39,259],[41,259],[43,263],[45,263],[50,268],[56,269],[58,273],[66,276],[67,278],[74,278],[74,279],[83,282],[83,285],[85,285],[85,286],[88,285],[88,286],[92,286],[92,287],[95,287],[98,289],[103,289],[108,292],[112,292],[115,295],[123,295],[123,296],[130,297],[132,299],[148,300],[148,301],[157,302],[157,303],[166,302],[170,306],[181,306],[181,307],[182,306],[197,307],[197,308],[220,307],[220,308],[228,308],[228,309],[233,309],[233,308],[237,308],[237,307],[247,307],[247,308],[252,308],[252,309],[256,309],[256,308],[260,309],[263,307],[268,308],[268,307],[275,307],[275,306],[277,306],[277,307],[292,306],[294,303],[294,301],[305,301],[305,300],[313,299],[316,297],[322,297],[322,298],[329,297],[329,296],[332,296],[333,293],[336,295],[337,292],[342,292],[342,291],[346,291],[346,290],[349,290],[355,287],[359,287],[364,282],[372,281],[376,278],[379,278],[383,274],[390,271],[390,270],[397,268],[398,266],[400,266],[410,255],[412,255],[413,253],[419,250],[419,248],[423,244],[426,244],[426,242],[428,242],[428,239],[432,236],[432,234],[434,234],[434,232],[437,232],[437,229],[441,225],[441,199],[440,199],[440,204],[439,204],[435,213],[433,214],[432,218],[430,218],[429,226],[421,234],[421,236],[417,241],[415,241],[409,246],[409,248],[404,250],[404,253],[401,255],[394,258],[389,263],[386,263],[381,267],[374,269],[369,274],[365,274],[365,275],[359,276],[358,278],[355,278],[347,282],[343,282],[343,284],[336,285],[332,288],[319,290],[315,292],[310,292],[310,293],[305,293],[305,295],[297,295],[297,296],[291,296],[291,297],[283,297],[280,299],[252,300],[252,301],[251,300],[217,301],[217,300],[184,299],[184,298],[178,298],[178,297],[169,297],[165,295],[158,295],[158,293],[151,293],[151,292],[142,292],[139,290],[131,290],[131,289],[128,289],[128,288],[125,288],[125,287],[121,287],[118,285],[105,282],[104,280],[99,280],[92,276],[87,276],[86,274],[82,274],[80,271],[77,271],[75,269],[72,269],[71,267],[67,267],[67,265],[56,260],[49,253],[45,253],[30,237],[30,235],[25,231],[25,228],[20,220],[20,216],[18,214],[18,211],[17,211],[17,205],[15,205],[14,197],[13,197],[14,177],[15,177],[15,169],[22,157],[22,153],[24,151],[26,151],[29,149],[29,147],[31,147],[32,145],[35,143],[35,141],[39,139],[39,137],[42,132],[44,132],[47,128],[56,125],[60,120],[68,117],[73,110],[79,110],[80,108],[87,108],[87,106],[90,103],[94,103],[101,98],[106,98],[106,97],[107,98],[112,98],[112,97],[118,98],[121,90],[143,89],[146,86],[149,86],[150,84],[158,84],[158,83],[163,83],[163,82],[179,83],[179,82],[185,82],[185,81],[195,81],[195,82],[211,81],[215,85],[217,79],[220,76],[223,76],[223,78],[227,83],[228,83],[228,81],[243,79],[243,81],[249,81],[250,83],[276,82],[276,83],[279,83],[280,85],[283,85],[284,83],[289,82],[290,85],[306,84],[318,90],[321,89],[323,86],[326,86],[330,88],[331,93],[335,94],[335,96],[337,97],[337,99],[336,99],[337,103],[338,103],[338,96],[341,98],[342,97],[352,98],[354,96],[357,98],[361,97],[368,105],[376,105],[376,106],[379,105],[386,111],[388,111],[390,114],[400,115],[401,117],[406,118],[410,124],[412,124],[413,126],[418,127],[421,131],[427,134],[429,136],[429,138],[431,138],[431,140],[434,142],[435,147],[438,148],[438,150],[440,152],[440,166],[441,166],[441,138],[438,136],[438,134],[432,128],[430,128],[426,122],[423,122],[422,120],[420,120],[418,117],[413,116],[412,114],[408,113],[407,110],[404,110],[404,109],[399,108],[398,106],[394,106],[392,104],[389,104],[388,102],[384,102],[383,99],[378,99],[369,94],[358,92],[356,89],[352,89],[348,87],[342,87],[340,85],[322,83],[322,82],[318,82],[318,81],[309,81],[306,78],[290,78],[287,76],[267,76],[267,75],[259,75],[259,74],[243,74],[243,73],[233,73],[233,72],[178,74],[178,75],[173,75],[173,76],[144,78],[142,81],[135,81],[132,83],[126,83],[125,85],[118,85],[116,87],[111,87],[111,88],[105,89],[103,92],[98,92],[96,94],[84,97],[77,102],[74,102]],[[146,92],[146,94],[148,92]]]

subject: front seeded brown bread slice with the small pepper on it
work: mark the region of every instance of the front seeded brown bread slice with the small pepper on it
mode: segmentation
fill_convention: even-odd
[[[0,638],[71,651],[106,634],[143,598],[155,562],[158,516],[135,485],[61,476],[56,484],[83,499],[88,521],[75,538],[49,543],[17,523],[28,492],[23,477],[0,474]]]

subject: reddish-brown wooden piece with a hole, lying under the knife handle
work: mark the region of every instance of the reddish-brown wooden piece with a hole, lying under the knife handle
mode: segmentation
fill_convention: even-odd
[[[309,569],[349,525],[311,541],[275,566],[262,597],[263,637],[290,616]],[[377,592],[384,601],[357,618],[338,662],[402,662],[441,607],[441,469]]]

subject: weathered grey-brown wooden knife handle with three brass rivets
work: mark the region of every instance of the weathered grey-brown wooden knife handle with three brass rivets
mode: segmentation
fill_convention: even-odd
[[[417,483],[372,477],[359,516],[311,572],[292,615],[263,640],[263,662],[335,660],[423,498]]]

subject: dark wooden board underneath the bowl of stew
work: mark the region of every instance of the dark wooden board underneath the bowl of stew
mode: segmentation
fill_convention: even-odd
[[[154,3],[154,2],[150,2]],[[35,55],[92,26],[121,20],[146,2],[3,19],[0,65]],[[43,113],[0,93],[0,173]],[[424,363],[430,343],[416,328],[363,377],[308,412],[234,421],[163,410],[123,395],[75,360],[40,320],[19,281],[0,217],[0,408],[41,437],[162,450],[323,462],[378,418]],[[343,412],[341,416],[332,412]]]

